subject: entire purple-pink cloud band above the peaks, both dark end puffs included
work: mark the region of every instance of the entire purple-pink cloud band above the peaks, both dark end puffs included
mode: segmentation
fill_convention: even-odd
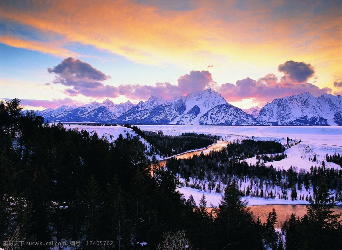
[[[213,81],[211,73],[207,70],[190,71],[180,76],[177,84],[157,82],[155,85],[121,84],[119,86],[103,84],[102,82],[109,78],[108,75],[86,62],[73,58],[64,59],[62,63],[48,70],[56,74],[53,83],[61,83],[69,87],[64,90],[65,94],[69,96],[81,94],[95,98],[116,98],[123,95],[128,99],[146,100],[151,95],[155,95],[171,99],[176,95],[186,95],[212,88],[221,93],[228,102],[252,98],[255,102],[264,104],[274,98],[287,95],[310,92],[318,96],[332,91],[331,88],[319,88],[303,81],[313,75],[314,69],[310,64],[294,61],[279,65],[279,70],[285,73],[280,80],[274,74],[267,74],[258,80],[245,78],[237,81],[236,84],[225,83],[221,86]],[[341,86],[342,82],[335,82],[334,85]]]

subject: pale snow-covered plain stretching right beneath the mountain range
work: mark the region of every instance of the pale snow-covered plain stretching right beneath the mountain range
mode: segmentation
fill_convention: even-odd
[[[176,135],[184,132],[216,134],[225,141],[252,139],[273,140],[286,144],[289,139],[301,140],[301,143],[287,149],[287,158],[277,162],[265,163],[266,166],[288,169],[290,166],[310,170],[311,166],[318,166],[325,155],[335,152],[342,154],[342,127],[308,127],[308,126],[171,126],[171,125],[139,125],[142,130],[158,131]],[[309,157],[317,157],[317,162],[309,161]],[[255,164],[255,157],[247,159],[248,163]],[[334,163],[327,163],[327,167],[339,168]]]

